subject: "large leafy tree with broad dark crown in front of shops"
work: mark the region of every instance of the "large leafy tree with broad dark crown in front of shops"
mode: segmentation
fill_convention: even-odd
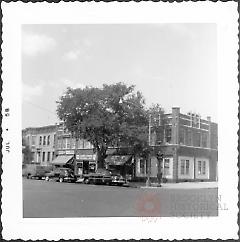
[[[148,112],[134,86],[68,88],[57,103],[57,114],[73,136],[93,144],[98,167],[103,167],[108,147],[131,146],[139,152],[147,145]]]

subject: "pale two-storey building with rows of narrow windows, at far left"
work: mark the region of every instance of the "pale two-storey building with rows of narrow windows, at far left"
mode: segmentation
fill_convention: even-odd
[[[22,137],[32,152],[32,163],[50,165],[56,156],[56,133],[58,125],[26,128]]]

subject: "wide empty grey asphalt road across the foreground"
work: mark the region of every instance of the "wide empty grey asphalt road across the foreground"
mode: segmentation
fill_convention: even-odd
[[[23,179],[24,218],[217,216],[217,188],[130,188]]]

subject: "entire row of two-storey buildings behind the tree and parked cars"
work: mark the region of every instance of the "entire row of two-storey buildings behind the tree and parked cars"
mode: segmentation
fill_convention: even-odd
[[[163,114],[161,120],[157,128],[150,129],[150,161],[133,154],[129,147],[112,147],[105,159],[107,168],[117,169],[134,180],[146,180],[150,173],[154,180],[160,155],[161,171],[168,182],[217,180],[217,124],[210,117],[202,119],[195,113],[182,114],[180,108],[172,108],[172,112]],[[31,149],[34,163],[74,164],[79,176],[97,169],[92,144],[83,139],[76,142],[63,124],[26,128],[22,135]]]

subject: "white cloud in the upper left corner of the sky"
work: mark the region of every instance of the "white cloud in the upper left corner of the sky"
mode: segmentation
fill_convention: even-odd
[[[22,35],[22,52],[27,56],[46,53],[56,46],[56,41],[46,35],[24,32]]]

